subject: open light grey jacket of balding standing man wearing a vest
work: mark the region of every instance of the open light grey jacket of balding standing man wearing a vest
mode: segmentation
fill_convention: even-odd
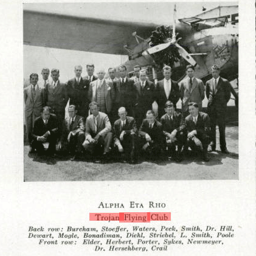
[[[89,102],[96,102],[96,91],[97,91],[98,80],[92,81],[89,86],[88,99]],[[106,111],[109,113],[112,109],[112,102],[115,99],[114,86],[111,81],[104,79],[102,86],[105,86],[105,101],[106,101]]]

